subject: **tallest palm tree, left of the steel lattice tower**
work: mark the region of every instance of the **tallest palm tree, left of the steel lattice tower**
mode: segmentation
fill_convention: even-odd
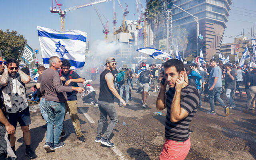
[[[148,5],[146,12],[146,21],[150,25],[150,28],[154,32],[154,44],[156,44],[156,38],[158,36],[158,30],[164,25],[164,9],[158,1],[152,1]]]

